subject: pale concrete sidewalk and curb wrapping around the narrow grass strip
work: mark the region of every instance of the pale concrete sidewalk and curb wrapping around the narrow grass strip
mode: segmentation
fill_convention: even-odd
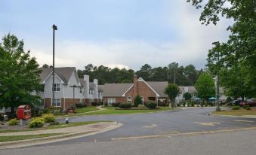
[[[54,135],[45,138],[32,138],[19,141],[6,141],[0,142],[0,149],[5,148],[14,148],[14,147],[27,147],[36,144],[46,144],[56,141],[64,141],[72,138],[85,137],[88,135],[95,135],[100,132],[106,132],[113,130],[122,126],[122,123],[117,122],[99,122],[88,124],[84,126],[72,126],[60,129],[45,129],[45,130],[36,130],[28,132],[7,132],[0,133],[0,136],[8,135],[39,135],[39,134],[48,134],[48,133],[62,133],[62,135]]]

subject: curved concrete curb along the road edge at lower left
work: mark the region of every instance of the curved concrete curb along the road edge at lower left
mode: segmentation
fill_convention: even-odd
[[[122,123],[118,123],[118,122],[114,122],[114,123],[116,123],[115,126],[108,126],[104,129],[100,129],[96,131],[87,130],[86,132],[73,132],[73,133],[68,133],[63,135],[54,135],[54,136],[49,136],[44,138],[32,138],[32,139],[25,139],[25,140],[19,140],[19,141],[0,142],[0,149],[28,147],[28,146],[37,145],[37,144],[47,144],[51,142],[65,141],[73,138],[86,137],[89,135],[96,135],[101,132],[107,132],[113,129],[117,129],[123,125]]]

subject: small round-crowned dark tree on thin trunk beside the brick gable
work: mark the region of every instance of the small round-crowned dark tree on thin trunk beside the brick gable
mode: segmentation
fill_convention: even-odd
[[[168,84],[164,92],[171,101],[171,108],[174,108],[175,97],[180,93],[180,89],[177,84]]]

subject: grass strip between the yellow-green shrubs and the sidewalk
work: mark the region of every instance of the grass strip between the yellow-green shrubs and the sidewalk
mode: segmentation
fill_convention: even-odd
[[[71,123],[60,123],[53,126],[47,126],[42,128],[27,128],[27,129],[9,129],[9,130],[0,130],[0,133],[6,132],[26,132],[26,131],[35,131],[35,130],[44,130],[44,129],[58,129],[58,128],[66,128],[72,126],[83,126],[91,123],[98,123],[98,122],[106,122],[106,121],[88,121],[88,122],[71,122]]]

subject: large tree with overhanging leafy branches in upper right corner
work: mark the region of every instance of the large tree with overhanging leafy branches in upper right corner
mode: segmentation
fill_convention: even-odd
[[[237,65],[245,68],[244,84],[250,86],[250,96],[256,96],[256,1],[254,0],[187,0],[196,8],[204,9],[200,21],[214,23],[220,17],[234,22],[227,30],[231,32],[227,42],[215,44],[208,53],[208,66],[212,72],[229,69]],[[217,63],[216,63],[217,62]]]

